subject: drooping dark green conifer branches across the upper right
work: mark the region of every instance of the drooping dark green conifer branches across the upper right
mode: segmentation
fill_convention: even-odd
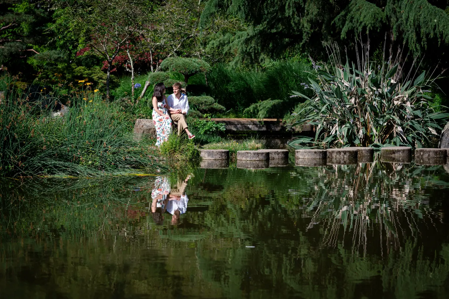
[[[440,0],[209,0],[200,27],[214,18],[238,18],[245,28],[216,34],[207,45],[207,51],[232,56],[235,62],[263,62],[288,52],[322,59],[323,41],[352,48],[354,37],[369,33],[376,45],[388,36],[390,56],[405,46],[405,53],[411,50],[414,57],[427,54],[425,61],[433,67],[444,57],[444,70],[449,63],[446,6],[447,1]]]

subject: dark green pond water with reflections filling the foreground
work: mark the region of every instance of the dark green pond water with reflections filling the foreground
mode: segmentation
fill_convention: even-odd
[[[2,180],[0,297],[449,297],[443,166],[293,164]]]

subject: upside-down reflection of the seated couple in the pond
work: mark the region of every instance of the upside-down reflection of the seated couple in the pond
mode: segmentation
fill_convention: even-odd
[[[189,198],[185,194],[187,181],[191,176],[187,176],[185,180],[178,180],[176,188],[171,189],[167,176],[158,176],[154,181],[154,189],[151,192],[151,213],[154,222],[162,225],[164,221],[163,214],[168,211],[172,214],[172,224],[179,222],[179,216],[187,210],[187,202]]]

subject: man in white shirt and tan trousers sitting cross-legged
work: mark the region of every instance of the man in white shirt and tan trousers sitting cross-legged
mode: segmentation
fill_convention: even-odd
[[[185,130],[189,139],[195,137],[192,133],[189,132],[188,125],[185,122],[185,115],[189,113],[189,100],[184,93],[180,92],[181,84],[175,83],[173,84],[173,94],[168,96],[167,105],[171,108],[175,109],[175,111],[170,110],[170,114],[172,116],[173,123],[178,125],[178,136],[181,135],[181,132]]]

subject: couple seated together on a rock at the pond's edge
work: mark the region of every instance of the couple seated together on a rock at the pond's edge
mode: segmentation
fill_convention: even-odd
[[[178,136],[184,130],[189,139],[195,137],[187,129],[185,115],[189,113],[189,101],[184,93],[181,93],[181,84],[173,84],[173,94],[165,96],[165,85],[158,83],[154,86],[153,92],[153,123],[156,128],[157,141],[156,145],[160,146],[164,141],[168,140],[168,136],[172,132],[172,121],[178,125]]]

